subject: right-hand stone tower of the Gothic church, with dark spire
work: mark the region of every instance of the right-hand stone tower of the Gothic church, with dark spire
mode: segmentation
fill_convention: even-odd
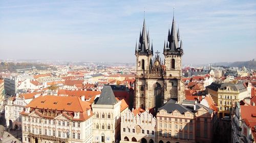
[[[180,32],[176,31],[175,18],[173,16],[172,29],[168,31],[166,45],[164,42],[164,100],[170,98],[177,99],[181,102],[184,98],[184,82],[181,80],[181,61],[183,55],[182,40],[180,40]]]

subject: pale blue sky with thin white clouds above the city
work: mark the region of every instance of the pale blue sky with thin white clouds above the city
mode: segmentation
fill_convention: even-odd
[[[256,58],[255,0],[0,0],[0,59],[135,62],[144,10],[162,53],[174,7],[183,64]]]

